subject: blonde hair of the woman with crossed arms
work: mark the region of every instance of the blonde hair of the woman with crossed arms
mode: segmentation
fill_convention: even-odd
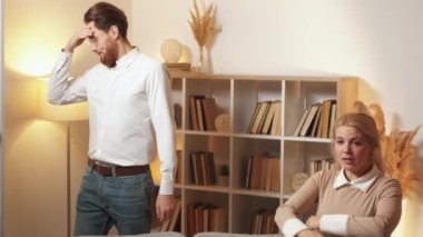
[[[373,150],[371,152],[373,164],[384,174],[385,167],[382,160],[381,140],[375,120],[364,112],[345,113],[336,119],[332,135],[333,138],[336,138],[336,128],[341,126],[353,127],[364,135],[364,137],[373,145]],[[333,147],[334,142],[332,142],[332,148]]]

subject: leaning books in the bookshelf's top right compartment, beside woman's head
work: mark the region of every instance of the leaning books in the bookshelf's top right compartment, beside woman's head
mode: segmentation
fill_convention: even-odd
[[[304,111],[294,136],[329,138],[335,120],[336,100],[313,103]]]

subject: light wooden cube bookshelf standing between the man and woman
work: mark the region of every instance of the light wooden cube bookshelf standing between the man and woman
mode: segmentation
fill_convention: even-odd
[[[177,130],[181,156],[178,170],[180,182],[175,192],[181,199],[179,229],[185,235],[193,231],[189,230],[193,226],[188,225],[191,218],[188,209],[196,204],[219,208],[225,219],[219,228],[225,231],[250,233],[252,226],[246,225],[246,218],[253,219],[259,209],[276,210],[293,194],[293,175],[307,172],[311,160],[331,156],[329,138],[293,136],[306,108],[332,99],[336,100],[336,116],[340,116],[352,109],[358,93],[358,80],[352,77],[209,75],[191,71],[170,71],[170,75],[174,102],[181,110]],[[213,98],[216,105],[214,117],[228,115],[229,131],[193,127],[189,100],[198,95]],[[276,120],[272,121],[279,125],[260,132],[249,132],[260,101],[279,103],[278,115],[273,115]],[[272,128],[268,122],[266,126]],[[213,154],[216,177],[220,166],[229,167],[227,185],[195,182],[191,156],[205,151]],[[277,158],[277,161],[269,162],[277,164],[277,169],[263,169],[272,170],[274,175],[265,177],[264,188],[252,189],[247,186],[248,162],[259,152],[266,152],[272,159]],[[277,181],[275,177],[278,177]]]

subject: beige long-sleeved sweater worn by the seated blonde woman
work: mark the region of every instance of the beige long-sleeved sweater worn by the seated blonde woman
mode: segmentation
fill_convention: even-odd
[[[275,220],[279,228],[286,220],[299,218],[317,201],[316,216],[348,215],[347,236],[390,236],[401,217],[400,182],[377,175],[366,191],[353,186],[334,188],[338,172],[324,170],[315,174],[289,200],[278,207]]]

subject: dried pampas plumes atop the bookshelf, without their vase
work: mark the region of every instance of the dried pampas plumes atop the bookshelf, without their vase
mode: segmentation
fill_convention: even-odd
[[[207,40],[213,33],[215,26],[215,8],[213,3],[204,8],[203,4],[203,16],[200,14],[197,0],[193,0],[194,10],[190,10],[190,21],[191,31],[195,40],[198,43],[199,48],[206,46]]]

